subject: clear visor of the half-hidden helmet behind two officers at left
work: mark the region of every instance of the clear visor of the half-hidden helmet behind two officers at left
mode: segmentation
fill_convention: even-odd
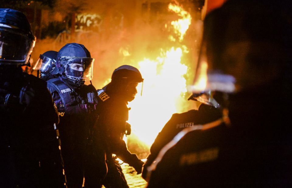
[[[42,54],[36,61],[36,64],[33,66],[34,70],[40,70],[42,73],[49,73],[56,66],[56,61],[54,59],[43,56]]]

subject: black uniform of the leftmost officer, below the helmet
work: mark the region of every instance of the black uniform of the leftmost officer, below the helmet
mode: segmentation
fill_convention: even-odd
[[[0,119],[0,186],[64,187],[59,118],[46,82],[16,66],[1,71]]]

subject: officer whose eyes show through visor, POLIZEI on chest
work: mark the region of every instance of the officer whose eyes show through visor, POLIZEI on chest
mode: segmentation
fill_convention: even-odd
[[[62,156],[70,188],[82,187],[86,142],[96,121],[96,89],[84,84],[92,79],[93,61],[84,45],[66,44],[57,55],[60,76],[47,81],[59,112]]]

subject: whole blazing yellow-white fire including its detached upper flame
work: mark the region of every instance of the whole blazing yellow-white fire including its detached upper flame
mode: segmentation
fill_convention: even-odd
[[[172,21],[169,27],[174,30],[173,39],[182,41],[191,24],[191,16],[181,6],[170,3],[169,11],[176,13],[180,19]],[[120,51],[126,53],[123,50]],[[161,49],[160,55],[151,60],[144,58],[143,61],[133,64],[141,72],[143,83],[143,95],[137,95],[135,100],[129,103],[132,110],[129,111],[129,123],[132,124],[132,132],[148,145],[155,140],[158,132],[174,113],[182,112],[186,90],[188,67],[181,62],[182,56],[188,53],[185,45]],[[138,91],[141,90],[138,85]]]

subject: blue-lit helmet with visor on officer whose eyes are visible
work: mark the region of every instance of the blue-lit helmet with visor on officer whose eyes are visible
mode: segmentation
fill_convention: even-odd
[[[59,74],[75,86],[82,86],[86,80],[92,79],[93,61],[84,45],[69,43],[58,52],[56,67]]]

